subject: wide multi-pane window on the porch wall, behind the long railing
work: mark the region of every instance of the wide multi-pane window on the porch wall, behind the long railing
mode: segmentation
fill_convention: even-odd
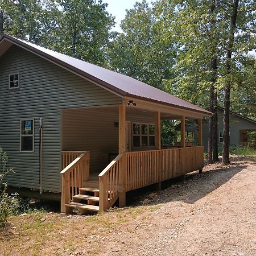
[[[133,147],[155,146],[155,125],[133,123]]]

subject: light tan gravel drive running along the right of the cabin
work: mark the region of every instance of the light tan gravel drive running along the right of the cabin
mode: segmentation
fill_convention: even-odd
[[[101,255],[256,255],[255,163],[209,165],[156,197],[162,207]]]

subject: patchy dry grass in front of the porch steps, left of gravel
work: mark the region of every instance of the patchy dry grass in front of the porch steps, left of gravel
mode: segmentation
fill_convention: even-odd
[[[12,216],[9,226],[0,229],[0,255],[69,255],[77,250],[85,250],[85,255],[98,255],[104,243],[99,237],[109,237],[120,230],[133,232],[134,221],[146,221],[160,207],[142,205],[65,218],[43,211]]]

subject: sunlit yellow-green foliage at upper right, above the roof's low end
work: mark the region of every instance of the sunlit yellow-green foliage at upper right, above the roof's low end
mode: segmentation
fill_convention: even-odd
[[[164,81],[164,87],[168,92],[209,108],[209,89],[213,75],[210,63],[211,59],[216,57],[218,83],[215,87],[220,101],[223,99],[223,88],[229,82],[234,97],[240,98],[240,106],[255,105],[255,97],[250,97],[253,94],[247,89],[255,83],[255,74],[253,69],[241,71],[241,67],[247,59],[247,53],[255,48],[256,3],[253,0],[239,2],[231,71],[226,74],[226,49],[230,35],[232,6],[232,0],[156,2],[156,17],[162,22],[162,38],[166,42],[176,40],[180,46],[175,63],[175,79]],[[245,80],[247,81],[240,82]],[[250,99],[254,100],[254,104]],[[232,108],[238,109],[236,105],[237,101],[234,98]],[[252,113],[255,113],[253,107],[246,114],[253,115]]]

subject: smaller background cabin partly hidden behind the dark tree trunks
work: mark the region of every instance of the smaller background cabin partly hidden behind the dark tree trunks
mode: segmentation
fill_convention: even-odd
[[[221,150],[223,141],[223,116],[224,108],[218,106],[218,148]],[[256,145],[256,121],[230,111],[230,146],[255,146]],[[185,143],[188,146],[197,144],[197,123],[195,120],[186,120]],[[176,125],[176,131],[180,134],[180,123]],[[208,119],[203,120],[203,145],[204,151],[208,148]],[[179,144],[180,137],[175,136],[174,144]]]

